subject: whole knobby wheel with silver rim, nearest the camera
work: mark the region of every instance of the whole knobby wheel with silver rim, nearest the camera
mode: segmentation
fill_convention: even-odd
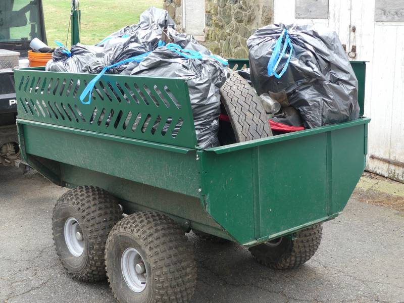
[[[184,230],[163,214],[138,212],[119,221],[108,236],[105,260],[120,303],[185,303],[193,295],[193,247]]]

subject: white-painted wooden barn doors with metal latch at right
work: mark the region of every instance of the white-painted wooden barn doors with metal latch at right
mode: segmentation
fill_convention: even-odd
[[[305,11],[305,2],[315,1],[274,0],[274,22],[328,26],[347,52],[354,47],[351,60],[369,61],[365,116],[372,121],[367,169],[404,182],[404,0],[320,0],[328,3],[328,16],[298,18],[305,13],[319,16],[315,6]]]

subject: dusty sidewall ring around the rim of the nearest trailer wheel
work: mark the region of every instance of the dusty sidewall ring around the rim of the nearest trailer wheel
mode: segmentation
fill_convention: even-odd
[[[135,248],[144,261],[147,273],[146,287],[141,292],[134,292],[126,284],[122,275],[121,259],[122,254],[127,248]],[[111,237],[108,244],[107,252],[107,274],[113,289],[119,289],[115,292],[118,301],[121,302],[151,302],[154,297],[154,271],[150,267],[150,260],[138,240],[130,233],[119,232]]]

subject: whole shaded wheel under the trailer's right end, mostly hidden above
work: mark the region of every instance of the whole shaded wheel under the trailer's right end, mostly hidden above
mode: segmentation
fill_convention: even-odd
[[[249,248],[259,263],[273,269],[291,269],[306,263],[316,253],[321,242],[321,224],[299,230],[292,240],[280,237]]]

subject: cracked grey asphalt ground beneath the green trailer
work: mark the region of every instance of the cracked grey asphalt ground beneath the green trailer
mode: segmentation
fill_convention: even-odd
[[[1,303],[113,302],[106,282],[75,281],[58,261],[51,217],[65,190],[0,167]],[[316,255],[296,270],[264,268],[245,248],[190,233],[198,265],[192,302],[404,302],[404,213],[366,203],[372,194],[380,199],[371,189],[354,193],[344,213],[324,224]]]

